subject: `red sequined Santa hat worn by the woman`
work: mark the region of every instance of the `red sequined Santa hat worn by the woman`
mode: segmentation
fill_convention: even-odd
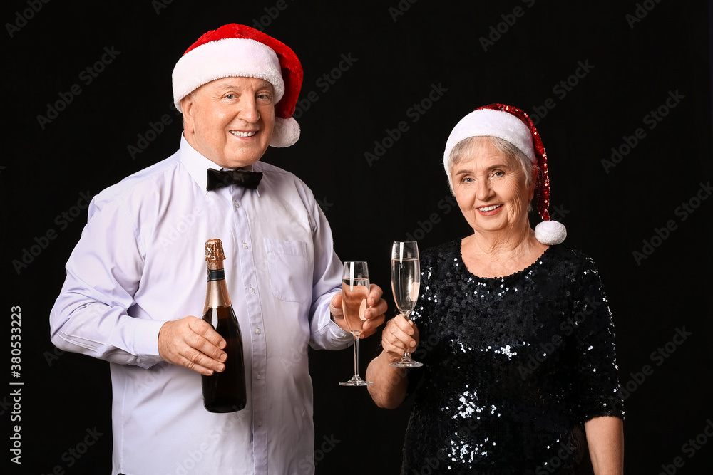
[[[506,104],[483,105],[462,118],[446,141],[443,166],[450,172],[451,150],[469,137],[491,136],[510,142],[538,167],[535,184],[537,209],[543,221],[535,226],[535,238],[543,244],[560,244],[567,237],[565,226],[550,219],[550,177],[547,154],[533,121],[522,110]]]

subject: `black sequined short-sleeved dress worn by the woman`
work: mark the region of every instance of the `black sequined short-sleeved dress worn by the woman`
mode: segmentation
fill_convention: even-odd
[[[590,473],[584,422],[623,419],[612,318],[593,261],[550,246],[503,278],[461,241],[421,256],[402,474]],[[586,468],[588,467],[588,470]]]

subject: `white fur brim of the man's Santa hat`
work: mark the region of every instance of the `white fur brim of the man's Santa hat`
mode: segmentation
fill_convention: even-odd
[[[284,94],[282,71],[272,48],[247,38],[225,38],[181,56],[173,68],[173,103],[181,110],[185,96],[212,80],[229,77],[266,80],[275,88],[276,104]]]

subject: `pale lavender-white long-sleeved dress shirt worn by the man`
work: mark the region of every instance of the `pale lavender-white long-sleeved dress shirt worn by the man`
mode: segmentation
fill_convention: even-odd
[[[111,362],[113,475],[312,474],[307,345],[353,341],[329,314],[342,281],[332,231],[293,174],[257,162],[257,190],[206,192],[208,168],[220,169],[181,137],[174,155],[94,197],[52,341]],[[247,405],[229,414],[207,412],[200,374],[158,355],[163,323],[202,316],[212,238],[245,353]]]

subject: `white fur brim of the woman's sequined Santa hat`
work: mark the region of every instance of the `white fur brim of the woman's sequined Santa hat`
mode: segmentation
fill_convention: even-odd
[[[533,163],[537,163],[532,132],[522,120],[502,110],[478,109],[462,118],[446,140],[446,150],[443,152],[443,167],[446,168],[446,173],[450,172],[451,150],[458,142],[486,135],[507,140]]]

